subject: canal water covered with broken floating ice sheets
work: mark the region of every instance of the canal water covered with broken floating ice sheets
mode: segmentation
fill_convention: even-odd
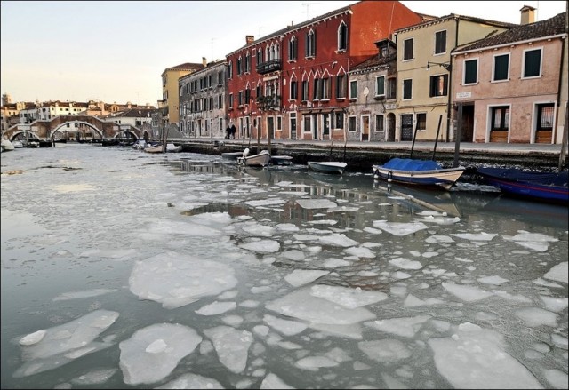
[[[70,144],[1,184],[2,388],[567,387],[566,207]]]

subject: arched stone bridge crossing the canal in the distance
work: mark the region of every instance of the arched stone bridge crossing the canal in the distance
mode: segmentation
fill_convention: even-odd
[[[14,140],[28,136],[28,138],[49,141],[67,135],[66,132],[70,131],[69,126],[71,124],[74,125],[71,131],[82,132],[83,135],[90,132],[92,139],[108,139],[119,136],[140,139],[145,132],[130,124],[105,122],[91,115],[58,115],[49,121],[37,120],[29,124],[12,126],[4,131],[4,137]],[[57,132],[60,132],[60,136],[56,136]],[[148,137],[151,137],[149,132]]]

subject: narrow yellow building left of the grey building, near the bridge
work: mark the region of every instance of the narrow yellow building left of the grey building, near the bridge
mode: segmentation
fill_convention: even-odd
[[[180,93],[178,89],[180,77],[196,72],[196,70],[202,68],[205,68],[205,63],[186,62],[176,65],[175,67],[164,69],[161,75],[162,102],[158,103],[158,106],[162,107],[162,125],[178,125],[180,121]]]

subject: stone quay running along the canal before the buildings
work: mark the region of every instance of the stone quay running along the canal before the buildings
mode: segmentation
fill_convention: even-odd
[[[306,164],[314,161],[344,161],[349,171],[370,171],[373,164],[386,163],[390,158],[434,159],[445,167],[458,161],[469,171],[483,165],[511,166],[542,171],[556,171],[561,163],[564,169],[568,164],[562,158],[561,145],[552,144],[506,144],[461,142],[358,142],[330,140],[271,139],[213,139],[180,138],[168,139],[181,145],[182,151],[208,155],[221,155],[226,152],[241,152],[245,147],[251,153],[266,149],[272,155],[291,155],[294,163]],[[411,154],[413,150],[413,155]],[[435,152],[435,153],[433,153]],[[434,157],[434,158],[433,158]]]

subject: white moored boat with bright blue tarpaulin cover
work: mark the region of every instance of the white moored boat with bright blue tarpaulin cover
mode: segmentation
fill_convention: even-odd
[[[383,165],[373,165],[373,179],[423,187],[451,189],[466,170],[463,166],[443,168],[434,160],[392,158]]]

